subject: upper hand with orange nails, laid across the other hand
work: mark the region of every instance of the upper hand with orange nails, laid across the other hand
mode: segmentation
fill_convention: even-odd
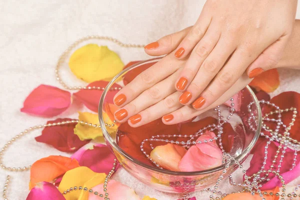
[[[207,0],[194,26],[145,49],[150,55],[175,49],[172,54],[179,60],[189,56],[175,87],[183,92],[181,104],[204,109],[245,70],[253,78],[276,65],[291,34],[295,9],[296,0]],[[174,39],[178,37],[180,43]]]

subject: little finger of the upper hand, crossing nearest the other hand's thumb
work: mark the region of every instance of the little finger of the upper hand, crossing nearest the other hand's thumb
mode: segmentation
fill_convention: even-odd
[[[210,15],[202,11],[196,23],[192,26],[187,35],[180,42],[174,53],[177,58],[184,58],[190,53],[194,46],[200,41],[205,34],[211,22]]]

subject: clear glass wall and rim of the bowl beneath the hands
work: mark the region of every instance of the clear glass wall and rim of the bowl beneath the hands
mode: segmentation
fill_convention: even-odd
[[[250,150],[258,139],[261,128],[261,110],[259,102],[249,86],[246,86],[244,89],[239,91],[241,95],[234,95],[235,98],[239,98],[238,100],[240,102],[239,113],[233,114],[231,117],[233,122],[230,122],[232,128],[236,132],[236,135],[234,136],[232,148],[229,153],[235,158],[235,160],[231,160],[229,167],[225,170],[225,173],[224,164],[211,169],[192,172],[170,171],[158,168],[154,165],[145,164],[134,159],[131,155],[121,149],[120,146],[118,146],[116,142],[117,131],[113,131],[111,133],[111,130],[108,130],[108,128],[111,127],[108,127],[107,121],[105,121],[105,119],[107,119],[105,107],[107,102],[111,103],[111,96],[107,96],[107,92],[111,89],[115,89],[111,88],[113,83],[119,82],[121,77],[124,77],[124,75],[128,72],[132,72],[133,69],[141,71],[146,64],[156,62],[159,59],[161,59],[161,57],[135,63],[122,70],[108,83],[100,98],[98,108],[99,121],[103,136],[107,145],[115,154],[120,165],[123,166],[123,168],[131,175],[150,187],[170,193],[186,193],[203,190],[215,184],[220,175],[223,175],[223,178],[229,176],[235,169],[238,168],[238,164],[236,162],[241,164],[249,155]],[[249,103],[251,103],[250,107],[247,107]],[[248,112],[249,108],[251,109],[251,113]],[[227,110],[227,112],[229,112],[228,110],[230,108],[228,109],[228,107],[222,105],[220,106],[220,109],[224,111]],[[213,113],[214,112],[211,110],[208,110],[203,114],[200,114],[198,117],[213,116]]]

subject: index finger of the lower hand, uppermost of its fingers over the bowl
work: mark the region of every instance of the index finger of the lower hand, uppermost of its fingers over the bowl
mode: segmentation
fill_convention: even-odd
[[[157,103],[158,101],[162,100],[169,94],[175,92],[175,88],[173,84],[178,77],[180,71],[176,71],[171,74],[169,77],[165,78],[164,80],[158,82],[157,84],[153,85],[149,89],[143,91],[140,95],[138,95],[135,99],[131,102],[123,106],[121,109],[116,110],[114,116],[118,122],[126,121],[130,116],[133,116],[131,123],[137,123],[142,118],[141,116],[136,113],[146,109],[147,107]],[[134,119],[134,120],[133,120]]]

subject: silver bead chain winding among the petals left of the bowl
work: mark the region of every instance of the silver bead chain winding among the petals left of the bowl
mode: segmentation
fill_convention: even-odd
[[[99,36],[99,35],[90,35],[90,36],[86,36],[86,37],[82,37],[80,39],[78,39],[77,41],[75,41],[74,43],[72,43],[60,56],[59,59],[57,61],[57,64],[55,66],[55,77],[56,80],[62,85],[63,88],[65,89],[69,89],[69,90],[77,90],[77,89],[97,89],[97,90],[104,90],[104,87],[96,87],[96,86],[68,86],[66,85],[62,79],[61,76],[59,75],[59,68],[61,66],[62,63],[65,62],[65,59],[67,58],[67,56],[69,55],[69,53],[75,48],[77,47],[80,43],[90,40],[90,39],[100,39],[100,40],[107,40],[107,41],[111,41],[113,43],[116,43],[117,45],[121,46],[121,47],[126,47],[126,48],[143,48],[144,45],[141,44],[126,44],[126,43],[122,43],[119,40],[112,38],[112,37],[107,37],[107,36]],[[120,90],[121,87],[111,87],[110,90]],[[110,126],[114,126],[116,121],[114,120],[113,123],[108,124],[105,123],[106,126],[110,127]],[[92,124],[89,123],[87,121],[83,121],[83,120],[66,120],[66,121],[61,121],[61,122],[57,122],[57,123],[45,123],[43,125],[35,125],[32,127],[29,127],[28,129],[25,129],[24,131],[20,132],[19,134],[15,135],[14,137],[12,137],[10,140],[8,140],[6,142],[6,144],[4,144],[4,146],[0,149],[0,168],[4,169],[4,170],[8,170],[8,171],[26,171],[29,170],[31,168],[31,165],[28,166],[23,166],[23,167],[10,167],[10,166],[5,166],[4,163],[2,162],[2,157],[4,155],[4,151],[11,146],[12,143],[14,143],[14,141],[20,139],[23,135],[31,132],[32,130],[35,129],[39,129],[39,128],[43,128],[43,127],[49,127],[49,126],[56,126],[56,125],[65,125],[65,124],[69,124],[69,123],[80,123],[82,125],[88,125],[94,128],[101,128],[100,125],[97,124]],[[115,163],[114,162],[114,166],[112,168],[112,170],[107,174],[105,180],[104,180],[104,185],[106,187],[107,185],[107,181],[110,178],[110,176],[112,175],[112,173],[114,172],[114,167],[115,167]],[[3,190],[3,198],[4,200],[8,200],[8,198],[6,197],[6,189],[7,189],[7,185],[9,182],[9,177],[7,176],[7,180],[5,182],[5,186],[4,186],[4,190]],[[79,188],[79,187],[78,187]],[[73,188],[74,190],[74,188]],[[90,189],[89,189],[90,190]],[[105,192],[105,190],[107,190],[106,188],[103,189],[103,191]],[[84,189],[83,189],[84,191]],[[68,192],[67,192],[68,193]],[[63,192],[64,194],[64,192]],[[107,194],[107,195],[106,195]],[[101,194],[102,195],[102,194]],[[100,196],[100,194],[99,194]],[[108,193],[105,192],[105,194],[103,195],[105,200],[108,200],[109,198]]]

